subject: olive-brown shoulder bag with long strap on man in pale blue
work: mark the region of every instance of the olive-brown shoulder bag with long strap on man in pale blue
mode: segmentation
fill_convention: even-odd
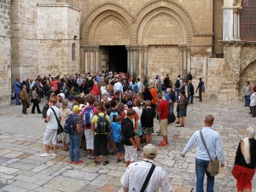
[[[207,144],[205,142],[205,139],[202,135],[202,132],[200,130],[200,136],[201,136],[201,141],[202,143],[204,144],[205,148],[207,149],[207,154],[210,158],[210,162],[209,162],[209,165],[207,166],[207,172],[210,172],[211,173],[211,176],[214,177],[216,175],[218,175],[218,172],[219,172],[219,160],[218,160],[218,156],[216,157],[215,160],[212,160],[212,157],[209,153],[209,150],[207,148]]]

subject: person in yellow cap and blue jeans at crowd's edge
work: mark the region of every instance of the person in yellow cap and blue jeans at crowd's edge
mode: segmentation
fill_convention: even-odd
[[[83,160],[79,160],[80,157],[80,143],[81,143],[81,116],[79,115],[82,108],[78,105],[73,106],[73,125],[76,126],[73,134],[69,134],[69,158],[73,164],[83,163]]]

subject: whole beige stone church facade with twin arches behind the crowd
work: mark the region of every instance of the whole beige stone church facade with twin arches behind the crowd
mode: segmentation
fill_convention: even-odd
[[[256,80],[256,39],[241,30],[250,1],[0,0],[0,106],[17,76],[106,69],[172,82],[190,71],[209,98],[239,99]]]

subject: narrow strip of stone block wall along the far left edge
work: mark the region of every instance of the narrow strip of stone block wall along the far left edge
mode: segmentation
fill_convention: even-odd
[[[11,94],[11,1],[0,0],[0,107],[9,105]]]

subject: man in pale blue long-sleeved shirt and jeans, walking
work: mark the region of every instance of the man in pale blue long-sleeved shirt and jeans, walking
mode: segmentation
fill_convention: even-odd
[[[218,131],[212,129],[214,118],[212,115],[208,115],[204,120],[205,126],[201,128],[203,138],[207,144],[210,156],[212,160],[215,160],[217,157],[216,151],[218,152],[218,158],[220,164],[224,166],[224,153],[221,146],[221,141]],[[207,174],[207,192],[213,192],[214,188],[214,177],[211,176],[210,172],[207,172],[207,166],[209,164],[210,158],[207,154],[207,149],[202,143],[200,131],[195,131],[192,137],[189,139],[186,147],[183,149],[182,156],[185,157],[185,154],[193,148],[196,143],[196,157],[195,157],[195,174],[196,174],[196,192],[204,192],[203,183],[205,174]]]

